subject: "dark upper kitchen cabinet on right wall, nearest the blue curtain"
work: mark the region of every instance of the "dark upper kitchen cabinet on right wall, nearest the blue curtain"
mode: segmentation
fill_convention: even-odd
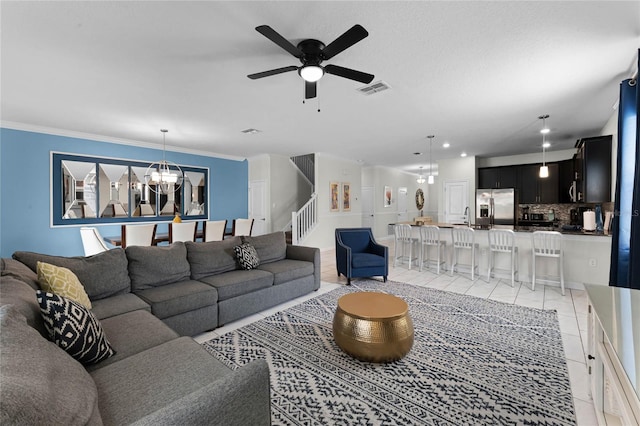
[[[578,201],[611,201],[611,135],[583,138],[576,142],[576,184]]]

